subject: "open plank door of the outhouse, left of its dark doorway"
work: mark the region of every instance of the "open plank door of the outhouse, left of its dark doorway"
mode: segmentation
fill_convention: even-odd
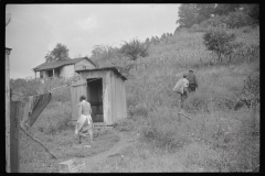
[[[86,81],[78,80],[76,84],[71,86],[71,100],[72,100],[72,120],[77,120],[77,110],[80,103],[80,97],[86,96]],[[86,96],[87,97],[87,96]]]

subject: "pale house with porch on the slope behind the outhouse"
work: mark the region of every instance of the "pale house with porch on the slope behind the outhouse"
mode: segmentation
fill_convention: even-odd
[[[77,70],[94,69],[96,65],[87,57],[64,59],[51,63],[43,63],[33,68],[35,73],[40,73],[40,78],[64,77],[70,78],[74,76]]]

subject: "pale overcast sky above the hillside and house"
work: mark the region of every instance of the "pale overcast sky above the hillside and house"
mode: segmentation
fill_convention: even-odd
[[[45,62],[47,51],[66,45],[70,57],[91,56],[95,45],[120,46],[173,33],[177,3],[161,4],[8,4],[11,22],[6,46],[11,47],[10,78],[34,76],[33,67]]]

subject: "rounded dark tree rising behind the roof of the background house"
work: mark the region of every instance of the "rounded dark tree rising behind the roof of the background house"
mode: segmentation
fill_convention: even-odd
[[[45,55],[46,63],[55,62],[55,61],[64,61],[68,58],[68,50],[65,45],[59,43],[53,48],[53,51],[49,51]]]

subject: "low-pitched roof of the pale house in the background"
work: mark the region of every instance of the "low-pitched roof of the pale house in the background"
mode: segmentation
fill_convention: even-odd
[[[72,65],[72,64],[78,63],[80,61],[82,61],[84,58],[86,58],[88,62],[91,62],[96,67],[96,65],[89,58],[80,57],[80,58],[64,59],[64,61],[57,61],[57,62],[52,62],[52,63],[43,63],[43,64],[34,67],[33,70],[40,72],[40,70],[45,70],[45,69],[54,69],[57,67],[62,67],[64,65]]]

